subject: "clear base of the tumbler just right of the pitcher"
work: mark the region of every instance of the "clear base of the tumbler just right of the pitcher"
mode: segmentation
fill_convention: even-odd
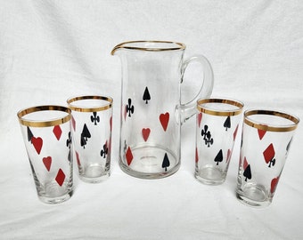
[[[206,166],[202,169],[196,168],[194,177],[207,185],[220,185],[225,182],[226,173],[214,166]]]

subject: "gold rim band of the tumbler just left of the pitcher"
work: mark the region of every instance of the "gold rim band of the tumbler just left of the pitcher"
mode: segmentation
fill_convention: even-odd
[[[108,103],[103,106],[94,107],[94,108],[77,107],[71,104],[72,102],[75,102],[77,100],[107,100]],[[104,96],[79,96],[79,97],[70,98],[69,100],[67,100],[67,102],[69,104],[69,108],[77,112],[98,112],[98,111],[109,109],[112,106],[112,99],[110,97],[104,97]]]

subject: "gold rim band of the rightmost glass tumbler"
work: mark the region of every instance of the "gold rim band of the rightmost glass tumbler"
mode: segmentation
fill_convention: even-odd
[[[279,116],[285,119],[290,120],[293,124],[284,124],[279,126],[268,125],[265,123],[259,123],[257,121],[253,121],[249,116],[251,115],[271,115],[271,116]],[[299,118],[297,116],[291,116],[290,114],[274,111],[274,110],[247,110],[244,112],[244,123],[250,125],[251,127],[258,128],[263,131],[270,132],[290,132],[297,128],[299,124]]]

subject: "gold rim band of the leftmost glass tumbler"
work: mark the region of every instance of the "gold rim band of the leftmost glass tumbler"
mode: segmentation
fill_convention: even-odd
[[[52,120],[28,120],[23,118],[23,116],[26,116],[30,113],[39,112],[39,111],[61,111],[67,113],[67,116],[55,118]],[[59,124],[64,124],[68,121],[70,121],[70,109],[62,106],[55,106],[55,105],[45,105],[45,106],[37,106],[32,108],[26,108],[23,110],[20,110],[17,113],[17,116],[19,118],[19,122],[22,125],[26,126],[32,126],[32,127],[47,127],[47,126],[55,126]]]

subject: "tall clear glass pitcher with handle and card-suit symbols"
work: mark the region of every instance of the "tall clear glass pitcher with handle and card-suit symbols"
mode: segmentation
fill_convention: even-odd
[[[159,179],[180,167],[181,124],[196,112],[196,100],[208,98],[213,71],[201,56],[184,60],[185,45],[132,41],[111,51],[122,63],[119,165],[129,175]],[[181,103],[181,85],[189,63],[203,68],[200,92]]]

